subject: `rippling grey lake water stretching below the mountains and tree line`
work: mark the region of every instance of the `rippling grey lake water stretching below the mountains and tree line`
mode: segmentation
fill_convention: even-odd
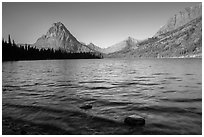
[[[74,134],[202,134],[202,59],[3,62],[2,92],[3,116]]]

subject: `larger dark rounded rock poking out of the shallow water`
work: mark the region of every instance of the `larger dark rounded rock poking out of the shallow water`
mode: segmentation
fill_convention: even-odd
[[[145,119],[139,115],[131,115],[125,118],[124,123],[130,126],[143,126]]]

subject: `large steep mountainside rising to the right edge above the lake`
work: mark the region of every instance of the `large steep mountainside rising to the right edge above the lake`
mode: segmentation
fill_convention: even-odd
[[[201,57],[202,6],[175,14],[152,37],[137,43],[135,49],[108,54],[108,57]]]

